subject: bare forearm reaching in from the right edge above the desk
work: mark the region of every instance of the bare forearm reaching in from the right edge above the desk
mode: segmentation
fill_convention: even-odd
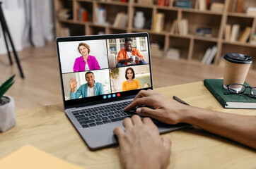
[[[191,107],[184,123],[233,139],[256,149],[256,116],[236,115]]]

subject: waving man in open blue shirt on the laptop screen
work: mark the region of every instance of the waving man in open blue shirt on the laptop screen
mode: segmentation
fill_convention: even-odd
[[[98,96],[105,94],[103,84],[100,82],[95,82],[95,77],[92,72],[86,73],[86,84],[82,84],[79,87],[75,94],[75,88],[77,86],[76,78],[71,78],[69,80],[70,86],[70,99],[78,99],[81,95],[82,97],[89,97],[89,96]]]

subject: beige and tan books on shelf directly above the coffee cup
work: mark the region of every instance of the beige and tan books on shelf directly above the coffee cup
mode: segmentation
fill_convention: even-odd
[[[240,30],[240,25],[234,24],[234,25],[226,25],[225,29],[225,40],[230,42],[247,42],[250,37],[251,27],[245,27],[245,30],[243,31],[243,34],[238,39]]]

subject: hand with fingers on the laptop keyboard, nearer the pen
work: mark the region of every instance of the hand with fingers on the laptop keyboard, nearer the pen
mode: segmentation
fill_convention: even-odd
[[[151,106],[141,107],[139,106]],[[191,106],[186,106],[180,104],[177,101],[169,99],[166,96],[153,92],[153,90],[141,90],[132,101],[132,104],[129,104],[124,111],[129,111],[131,109],[136,109],[136,113],[143,116],[149,116],[157,120],[162,121],[163,123],[168,123],[175,125],[177,123],[182,123],[184,118],[186,118],[187,111]]]

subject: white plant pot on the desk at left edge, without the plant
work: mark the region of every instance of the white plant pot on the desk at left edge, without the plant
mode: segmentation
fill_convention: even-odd
[[[16,125],[14,99],[11,96],[3,96],[10,99],[7,104],[0,106],[0,132],[5,132]]]

